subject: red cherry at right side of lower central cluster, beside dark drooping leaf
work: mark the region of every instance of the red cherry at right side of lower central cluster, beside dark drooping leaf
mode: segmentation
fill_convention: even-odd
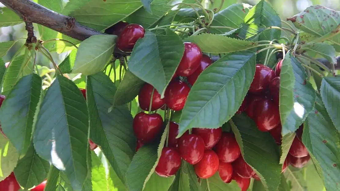
[[[215,151],[223,163],[232,163],[241,155],[235,136],[227,132],[222,132],[221,138],[215,146]]]

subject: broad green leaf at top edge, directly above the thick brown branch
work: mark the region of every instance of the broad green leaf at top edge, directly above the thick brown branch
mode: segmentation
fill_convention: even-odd
[[[81,5],[81,7],[74,6],[76,7],[74,9],[70,6],[73,10],[70,7],[66,9],[71,11],[69,16],[74,17],[80,24],[99,31],[103,31],[123,20],[143,6],[140,0],[99,0],[90,1],[86,4],[79,2],[77,5]],[[64,12],[66,11],[64,10]]]

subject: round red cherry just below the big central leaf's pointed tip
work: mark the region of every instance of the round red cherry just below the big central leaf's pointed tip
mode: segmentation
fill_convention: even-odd
[[[191,165],[197,164],[204,154],[204,141],[195,134],[185,134],[177,141],[181,157]]]

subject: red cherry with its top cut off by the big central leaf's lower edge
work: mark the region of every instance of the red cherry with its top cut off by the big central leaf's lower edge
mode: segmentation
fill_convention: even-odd
[[[220,140],[222,135],[222,128],[217,129],[200,129],[193,128],[192,133],[202,137],[204,141],[205,150],[209,150],[214,147]]]

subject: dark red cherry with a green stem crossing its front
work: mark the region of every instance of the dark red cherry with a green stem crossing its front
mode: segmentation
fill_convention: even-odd
[[[142,110],[149,111],[150,107],[150,99],[152,95],[153,86],[149,83],[146,83],[138,93],[138,102],[139,107],[142,108]],[[153,92],[152,96],[152,105],[151,105],[151,111],[158,110],[162,108],[165,105],[164,99],[160,99],[160,94],[155,91]]]

